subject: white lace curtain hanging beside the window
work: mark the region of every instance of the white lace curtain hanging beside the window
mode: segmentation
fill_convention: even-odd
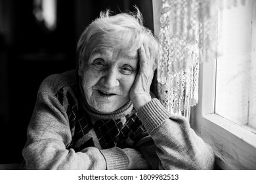
[[[162,0],[158,95],[175,115],[189,118],[198,103],[199,67],[217,54],[217,12],[245,0]],[[156,4],[156,2],[153,2]]]

